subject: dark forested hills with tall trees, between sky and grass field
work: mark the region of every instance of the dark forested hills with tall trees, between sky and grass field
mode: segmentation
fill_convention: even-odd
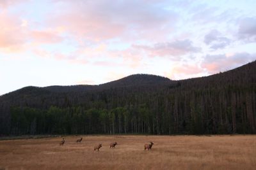
[[[256,62],[172,81],[134,74],[102,85],[24,87],[0,96],[0,135],[255,134]]]

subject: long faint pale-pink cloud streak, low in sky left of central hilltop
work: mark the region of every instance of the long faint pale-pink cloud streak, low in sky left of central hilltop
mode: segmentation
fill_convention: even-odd
[[[71,52],[52,52],[44,48],[33,49],[38,57],[64,60],[73,64],[92,64],[100,67],[138,67],[141,66],[140,51],[127,48],[125,50],[108,50],[106,44],[100,43],[88,47],[79,46]]]

